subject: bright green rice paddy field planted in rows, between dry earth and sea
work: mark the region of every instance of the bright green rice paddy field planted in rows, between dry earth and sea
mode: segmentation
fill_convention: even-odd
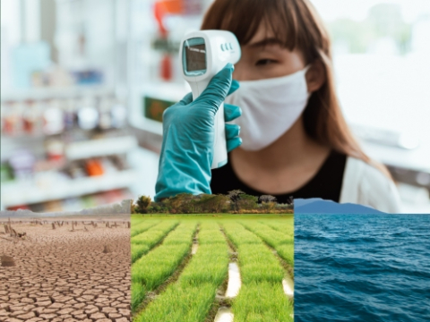
[[[242,281],[238,295],[229,301],[234,321],[293,321],[293,304],[282,289],[286,272],[265,244],[275,250],[284,245],[292,249],[292,236],[266,225],[267,221],[261,224],[244,220],[244,216],[240,216],[240,220],[190,219],[179,219],[180,224],[178,220],[162,220],[133,236],[132,254],[138,251],[138,246],[149,245],[149,250],[145,250],[143,255],[133,254],[133,321],[213,320],[213,309],[219,301],[215,295],[228,279],[228,242],[236,249]],[[153,219],[143,220],[144,223],[150,221],[154,223]],[[287,224],[285,219],[269,221],[273,225]],[[288,225],[292,223],[288,220]],[[135,220],[132,225],[142,224]],[[197,226],[198,249],[191,256]],[[164,235],[158,237],[154,248],[154,242],[147,241],[156,240],[155,236],[159,234],[154,232],[159,227],[163,228]],[[292,266],[294,259],[288,264]],[[172,275],[176,277],[172,279]],[[145,304],[141,305],[142,302]]]

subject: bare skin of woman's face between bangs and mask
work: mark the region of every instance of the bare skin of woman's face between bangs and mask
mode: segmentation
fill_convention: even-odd
[[[272,31],[260,24],[248,44],[241,47],[242,56],[235,64],[235,80],[262,80],[286,76],[305,68],[304,55],[297,49],[282,47]]]

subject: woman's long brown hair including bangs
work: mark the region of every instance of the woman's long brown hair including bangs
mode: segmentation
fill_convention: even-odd
[[[306,64],[319,59],[324,65],[326,81],[309,98],[303,114],[306,133],[391,177],[383,165],[366,156],[349,131],[336,95],[329,33],[309,0],[215,0],[203,19],[202,30],[229,30],[246,45],[261,23],[289,50],[301,50]]]

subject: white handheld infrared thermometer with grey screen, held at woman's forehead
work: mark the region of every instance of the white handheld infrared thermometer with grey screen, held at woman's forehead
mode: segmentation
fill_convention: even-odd
[[[225,30],[200,30],[185,35],[179,49],[185,80],[190,84],[193,100],[202,94],[212,77],[226,64],[240,59],[240,45],[236,36]],[[224,103],[215,115],[215,137],[211,169],[227,164],[226,125]]]

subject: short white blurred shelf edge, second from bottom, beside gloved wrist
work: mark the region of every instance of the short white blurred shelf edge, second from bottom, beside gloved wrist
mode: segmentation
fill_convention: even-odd
[[[103,157],[123,154],[137,147],[138,141],[133,136],[86,140],[82,142],[73,142],[67,145],[65,148],[65,156],[69,160]]]

